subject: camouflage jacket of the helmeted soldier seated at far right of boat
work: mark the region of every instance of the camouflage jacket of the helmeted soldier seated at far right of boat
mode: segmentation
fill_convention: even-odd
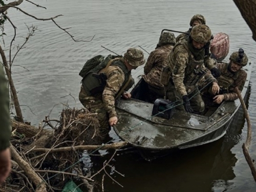
[[[240,69],[236,73],[231,73],[228,70],[228,65],[229,63],[217,64],[217,68],[221,71],[221,76],[218,77],[218,81],[220,84],[220,88],[222,88],[221,86],[222,79],[228,79],[228,78],[232,79],[232,83],[229,85],[230,88],[228,89],[228,93],[224,93],[223,95],[224,95],[225,101],[233,101],[238,98],[237,93],[234,92],[234,88],[237,87],[240,91],[243,90],[244,83],[247,78],[247,73],[243,69]]]

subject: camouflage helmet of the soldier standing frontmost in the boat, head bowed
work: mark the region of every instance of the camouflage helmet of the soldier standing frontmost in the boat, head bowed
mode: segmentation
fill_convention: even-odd
[[[201,44],[206,44],[211,39],[211,31],[207,25],[200,24],[192,28],[190,36]]]

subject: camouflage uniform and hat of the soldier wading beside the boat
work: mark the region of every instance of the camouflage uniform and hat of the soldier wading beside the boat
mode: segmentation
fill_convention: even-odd
[[[125,77],[125,74],[127,73],[127,68],[124,61],[125,59],[129,65],[135,67],[145,63],[142,51],[131,48],[127,50],[124,57],[119,60],[122,67],[120,67],[120,65],[115,66],[115,63],[112,63],[108,69],[104,69],[107,80],[102,92],[91,94],[88,91],[88,86],[91,81],[84,78],[79,93],[79,100],[83,106],[90,112],[98,114],[98,120],[100,122],[100,134],[103,138],[105,138],[110,131],[110,125],[108,122],[109,118],[117,117],[115,110],[115,99],[117,99],[116,97],[118,92],[121,91],[124,84],[128,81]],[[98,73],[101,72],[102,70]],[[128,72],[130,76],[131,70],[128,70]]]

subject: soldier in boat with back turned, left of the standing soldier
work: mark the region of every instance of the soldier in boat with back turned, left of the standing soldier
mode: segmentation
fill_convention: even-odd
[[[149,93],[147,101],[154,103],[157,98],[164,97],[163,84],[160,82],[161,73],[166,66],[165,58],[173,49],[176,39],[173,33],[163,32],[160,35],[156,50],[147,58],[143,79],[146,81]]]

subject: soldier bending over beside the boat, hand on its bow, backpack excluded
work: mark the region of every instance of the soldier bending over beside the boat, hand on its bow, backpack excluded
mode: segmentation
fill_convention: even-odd
[[[130,83],[131,70],[145,63],[143,52],[130,48],[117,60],[110,61],[107,69],[102,69],[97,74],[104,74],[106,80],[96,78],[97,74],[88,73],[82,80],[79,100],[85,108],[92,113],[98,113],[100,122],[100,135],[108,136],[110,126],[117,123],[115,100],[122,95],[131,98],[131,94],[124,92]]]

